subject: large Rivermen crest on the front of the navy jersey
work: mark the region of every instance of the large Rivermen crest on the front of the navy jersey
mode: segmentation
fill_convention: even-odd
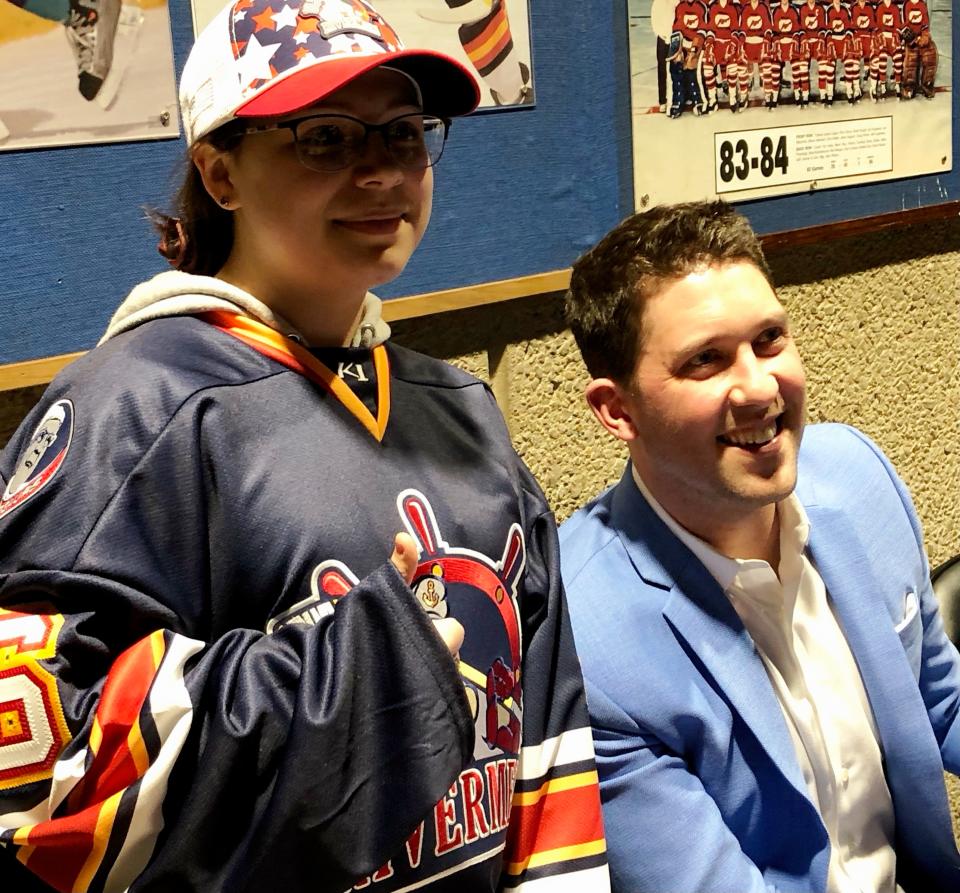
[[[498,543],[496,557],[490,557],[445,539],[444,533],[450,539],[454,534],[443,530],[419,490],[400,492],[396,506],[419,550],[411,583],[414,598],[429,617],[454,617],[463,624],[459,669],[476,734],[471,765],[403,849],[353,887],[384,893],[419,889],[471,865],[502,859],[498,854],[516,810],[523,711],[518,598],[526,546],[520,525],[504,522],[502,547]],[[309,597],[274,617],[267,632],[335,618],[336,605],[350,598],[357,582],[344,562],[321,562],[311,574]]]

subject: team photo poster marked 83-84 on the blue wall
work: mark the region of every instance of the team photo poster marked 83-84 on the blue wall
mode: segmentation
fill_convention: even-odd
[[[628,0],[628,14],[637,208],[952,168],[951,0]]]

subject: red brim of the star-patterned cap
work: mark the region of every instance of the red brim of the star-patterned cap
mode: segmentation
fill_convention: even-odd
[[[401,50],[317,61],[281,78],[244,103],[238,118],[287,115],[325,99],[355,78],[381,65],[410,75],[420,87],[423,110],[452,118],[472,112],[480,103],[480,87],[468,68],[431,50]]]

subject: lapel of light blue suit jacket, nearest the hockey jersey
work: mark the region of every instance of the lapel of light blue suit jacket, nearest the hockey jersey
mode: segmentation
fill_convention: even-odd
[[[637,573],[669,590],[663,608],[667,622],[787,781],[808,797],[780,704],[750,634],[710,572],[650,508],[629,467],[617,485],[612,511]]]

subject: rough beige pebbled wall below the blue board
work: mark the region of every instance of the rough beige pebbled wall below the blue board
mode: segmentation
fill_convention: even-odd
[[[931,562],[960,552],[960,221],[799,248],[771,266],[806,361],[811,420],[872,436],[913,492]],[[560,295],[394,331],[401,343],[492,378],[517,448],[561,520],[619,476],[625,453],[583,404],[586,370]],[[41,392],[0,393],[0,444]]]

